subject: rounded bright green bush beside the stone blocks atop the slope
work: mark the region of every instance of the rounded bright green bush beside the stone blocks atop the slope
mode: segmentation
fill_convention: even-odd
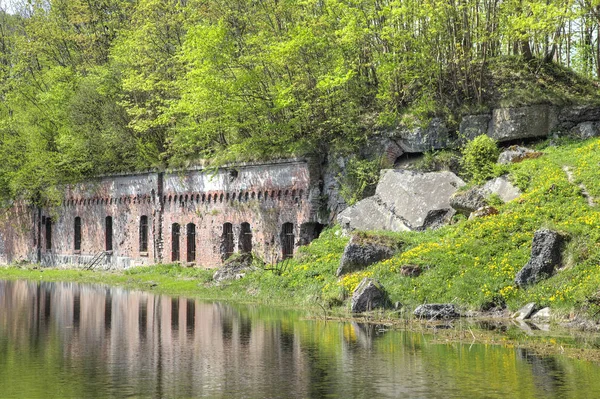
[[[497,173],[496,161],[500,150],[496,142],[481,135],[468,142],[462,150],[462,168],[475,184],[481,184]]]

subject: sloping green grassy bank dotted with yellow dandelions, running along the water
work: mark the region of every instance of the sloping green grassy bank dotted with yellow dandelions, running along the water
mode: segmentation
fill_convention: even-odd
[[[499,214],[475,220],[457,218],[436,231],[391,234],[402,250],[393,258],[338,279],[335,270],[348,238],[332,228],[301,248],[290,262],[257,269],[240,280],[216,285],[211,270],[161,265],[125,272],[0,269],[0,278],[107,283],[172,295],[302,308],[347,309],[348,298],[364,277],[379,279],[393,302],[410,310],[424,302],[454,302],[465,309],[516,309],[534,301],[559,313],[600,311],[600,209],[582,194],[600,198],[600,140],[540,145],[544,155],[507,167],[524,192],[498,206]],[[570,182],[564,167],[572,171]],[[551,278],[527,289],[513,279],[525,265],[534,232],[547,227],[567,239],[564,262]],[[373,233],[377,235],[378,233]],[[384,234],[384,233],[380,233]],[[419,265],[419,277],[405,277],[403,265]]]

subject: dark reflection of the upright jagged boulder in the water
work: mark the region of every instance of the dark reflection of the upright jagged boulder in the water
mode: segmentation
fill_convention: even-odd
[[[543,397],[554,397],[559,395],[561,388],[565,386],[565,370],[549,356],[539,356],[527,349],[517,348],[517,358],[531,365],[533,383]]]

